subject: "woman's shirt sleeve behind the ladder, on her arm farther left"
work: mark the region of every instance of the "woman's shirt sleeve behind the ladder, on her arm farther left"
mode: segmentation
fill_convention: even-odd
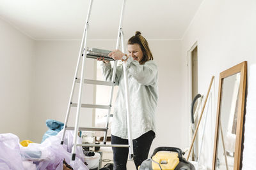
[[[105,81],[112,81],[112,76],[113,76],[113,68],[111,67],[110,62],[109,63],[104,63],[102,62],[102,75],[104,77]],[[119,80],[122,74],[122,68],[120,66],[116,67],[116,76],[115,76],[115,85],[119,85]]]

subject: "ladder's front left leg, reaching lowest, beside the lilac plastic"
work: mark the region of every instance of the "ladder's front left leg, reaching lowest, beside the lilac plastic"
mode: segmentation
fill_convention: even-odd
[[[83,76],[84,76],[84,66],[85,66],[85,59],[86,59],[86,40],[87,40],[87,32],[88,32],[88,26],[89,26],[89,18],[90,13],[92,10],[92,3],[93,0],[90,0],[88,15],[86,19],[86,26],[85,26],[85,35],[84,35],[84,55],[82,59],[82,68],[81,68],[81,81],[79,83],[79,96],[78,96],[78,102],[77,102],[77,111],[76,111],[76,125],[74,129],[74,139],[73,139],[73,147],[72,147],[72,160],[76,159],[76,146],[77,146],[77,134],[78,134],[78,126],[79,126],[79,117],[80,117],[80,109],[81,109],[81,99],[82,99],[82,92],[83,92]]]

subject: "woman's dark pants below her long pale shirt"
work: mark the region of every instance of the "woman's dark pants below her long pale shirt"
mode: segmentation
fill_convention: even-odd
[[[148,152],[155,137],[154,131],[148,131],[139,138],[132,140],[136,169],[138,169],[143,160],[148,158]],[[111,144],[127,145],[128,140],[111,135]],[[129,148],[112,147],[112,150],[114,154],[114,170],[126,170]]]

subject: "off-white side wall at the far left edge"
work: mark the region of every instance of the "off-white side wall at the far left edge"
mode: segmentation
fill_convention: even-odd
[[[28,139],[33,39],[0,19],[0,133]]]

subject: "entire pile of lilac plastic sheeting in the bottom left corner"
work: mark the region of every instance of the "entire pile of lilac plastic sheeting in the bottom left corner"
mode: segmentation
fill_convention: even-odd
[[[81,147],[76,148],[76,160],[70,160],[74,131],[66,131],[64,144],[60,145],[62,134],[60,131],[42,143],[28,146],[20,145],[15,134],[0,134],[0,170],[89,170]],[[77,138],[77,143],[81,143],[81,138]]]

